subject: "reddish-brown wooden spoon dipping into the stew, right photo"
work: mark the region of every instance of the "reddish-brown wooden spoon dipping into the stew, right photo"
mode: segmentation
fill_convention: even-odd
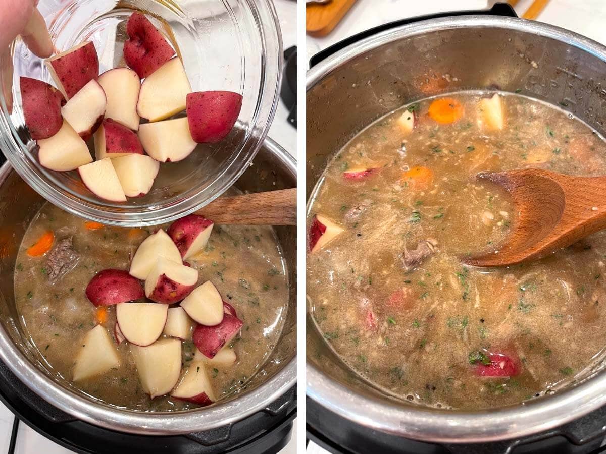
[[[513,199],[516,219],[498,251],[466,257],[473,266],[538,260],[606,228],[606,177],[571,177],[544,169],[482,173]]]

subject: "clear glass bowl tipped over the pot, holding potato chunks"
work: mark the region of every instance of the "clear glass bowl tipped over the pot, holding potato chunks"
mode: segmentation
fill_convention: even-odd
[[[55,83],[44,60],[17,38],[0,58],[0,147],[42,197],[108,225],[158,225],[220,196],[250,165],[273,119],[281,81],[282,41],[271,0],[40,0],[38,9],[58,50],[93,41],[100,73],[125,66],[126,22],[139,10],[181,56],[193,91],[244,96],[236,126],[224,140],[200,144],[180,162],[162,163],[146,196],[108,202],[88,191],[77,171],[50,171],[38,163],[36,142],[25,127],[19,77]],[[92,149],[92,139],[88,143]]]

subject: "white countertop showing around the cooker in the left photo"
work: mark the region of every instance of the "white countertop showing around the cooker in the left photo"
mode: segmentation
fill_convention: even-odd
[[[280,19],[282,27],[282,39],[284,48],[296,44],[296,4],[292,0],[274,0],[276,11]],[[271,124],[268,136],[274,139],[279,145],[285,148],[288,153],[295,156],[296,150],[296,130],[287,122],[288,110],[282,103],[279,102],[276,110],[276,117]],[[0,452],[7,452],[8,443],[10,441],[10,433],[13,427],[13,413],[0,403]],[[295,429],[291,436],[290,442],[280,454],[295,454],[296,440],[296,420]],[[38,432],[27,426],[25,423],[19,424],[19,432],[15,453],[18,454],[68,454],[72,451],[59,446],[53,441],[44,438]],[[133,451],[133,452],[136,452]]]

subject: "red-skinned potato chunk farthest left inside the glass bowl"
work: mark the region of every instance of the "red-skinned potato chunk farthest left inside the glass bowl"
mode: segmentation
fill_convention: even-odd
[[[30,77],[19,77],[19,86],[25,126],[32,139],[48,139],[58,133],[63,125],[61,106],[65,104],[61,91]]]

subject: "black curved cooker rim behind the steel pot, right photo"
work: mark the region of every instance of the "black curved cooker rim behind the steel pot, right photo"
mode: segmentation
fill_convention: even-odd
[[[357,35],[350,36],[349,38],[345,38],[343,41],[339,41],[336,44],[331,45],[330,47],[325,48],[324,50],[319,51],[310,59],[310,68],[317,65],[319,62],[328,58],[334,53],[337,53],[339,50],[344,49],[350,44],[354,44],[355,42],[362,41],[362,39],[368,38],[368,36],[376,35],[377,33],[381,33],[381,31],[390,30],[390,28],[396,28],[401,25],[412,24],[413,22],[426,21],[427,19],[438,19],[438,18],[446,18],[449,16],[467,16],[467,15],[487,15],[487,16],[505,16],[508,18],[517,18],[515,10],[510,4],[507,3],[495,3],[492,8],[489,10],[465,10],[465,11],[453,11],[453,12],[445,12],[445,13],[436,13],[430,14],[426,16],[416,16],[415,18],[407,18],[401,19],[399,21],[388,22],[387,24],[379,25],[378,27],[370,28],[368,30],[362,31]]]

